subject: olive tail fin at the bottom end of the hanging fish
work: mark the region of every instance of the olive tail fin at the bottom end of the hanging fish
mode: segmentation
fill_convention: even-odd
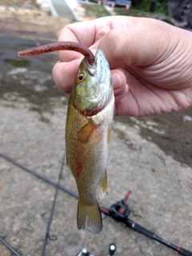
[[[78,200],[78,230],[89,230],[99,234],[102,230],[102,215],[96,201],[94,205],[86,206]]]

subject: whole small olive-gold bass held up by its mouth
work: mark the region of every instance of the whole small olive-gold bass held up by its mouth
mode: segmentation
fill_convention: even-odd
[[[93,65],[82,59],[70,92],[66,116],[66,163],[78,188],[78,230],[102,231],[97,195],[107,190],[107,158],[114,118],[109,63],[98,49]]]

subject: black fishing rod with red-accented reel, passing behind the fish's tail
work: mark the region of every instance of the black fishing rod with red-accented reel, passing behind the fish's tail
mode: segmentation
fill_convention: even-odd
[[[52,186],[56,186],[57,187],[57,184],[54,183],[54,182],[51,182],[48,178],[45,178],[42,175],[37,174],[34,170],[29,170],[27,167],[22,166],[20,163],[18,163],[16,161],[14,161],[13,159],[5,156],[4,154],[0,154],[0,157],[5,158],[9,162],[12,162],[14,165],[22,168],[23,170],[26,170],[26,171],[30,172],[31,174],[34,174],[34,176],[36,176],[38,178],[41,178],[45,182],[50,183]],[[59,185],[58,189],[63,190],[66,193],[74,196],[74,198],[78,198],[77,194],[75,194],[74,192],[72,192],[70,190],[67,190],[63,186]],[[180,254],[182,256],[192,256],[192,252],[190,252],[189,250],[186,250],[186,249],[184,249],[182,247],[179,247],[179,246],[175,246],[174,244],[166,241],[166,239],[160,238],[158,235],[154,234],[150,230],[146,230],[146,228],[144,228],[143,226],[141,226],[138,223],[130,220],[130,218],[128,218],[128,216],[130,214],[130,209],[128,208],[128,204],[127,204],[129,196],[130,196],[130,191],[126,194],[125,198],[123,198],[119,202],[114,203],[112,206],[110,206],[110,208],[100,207],[100,209],[102,211],[102,214],[105,214],[106,216],[114,218],[114,220],[116,222],[123,222],[123,223],[125,223],[126,226],[130,227],[132,230],[135,230],[138,233],[144,234],[144,235],[146,235],[146,237],[154,239],[154,240],[162,243],[163,245],[170,247],[170,249],[173,249],[173,250],[177,251],[178,254]]]

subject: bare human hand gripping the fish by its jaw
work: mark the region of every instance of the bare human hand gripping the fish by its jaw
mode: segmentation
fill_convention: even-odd
[[[143,117],[192,106],[192,33],[150,18],[106,17],[65,26],[58,41],[102,49],[114,80],[115,114]],[[82,56],[59,51],[54,81],[69,96]]]

